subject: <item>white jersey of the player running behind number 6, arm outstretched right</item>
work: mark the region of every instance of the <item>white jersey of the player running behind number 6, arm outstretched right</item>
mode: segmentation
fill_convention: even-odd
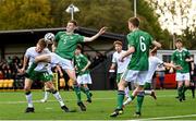
[[[163,64],[163,61],[157,57],[149,57],[148,61],[149,61],[149,68],[148,68],[148,73],[146,75],[146,82],[151,83],[152,75],[157,69],[157,65]]]

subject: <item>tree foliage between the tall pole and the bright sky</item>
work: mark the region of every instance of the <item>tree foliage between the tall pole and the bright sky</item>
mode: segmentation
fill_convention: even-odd
[[[137,0],[137,14],[143,19],[142,28],[160,41],[162,48],[169,49],[171,36],[167,29],[162,31],[155,9],[150,3],[145,0]]]

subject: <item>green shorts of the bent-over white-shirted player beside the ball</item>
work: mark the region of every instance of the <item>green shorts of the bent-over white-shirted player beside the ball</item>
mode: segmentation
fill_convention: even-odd
[[[42,81],[42,82],[49,82],[53,80],[53,75],[49,74],[48,72],[37,72],[33,71],[29,78],[32,81]]]

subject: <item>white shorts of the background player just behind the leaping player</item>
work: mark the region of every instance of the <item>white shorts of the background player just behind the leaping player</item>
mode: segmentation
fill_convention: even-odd
[[[91,77],[90,74],[83,74],[77,76],[77,83],[78,84],[91,84]]]

